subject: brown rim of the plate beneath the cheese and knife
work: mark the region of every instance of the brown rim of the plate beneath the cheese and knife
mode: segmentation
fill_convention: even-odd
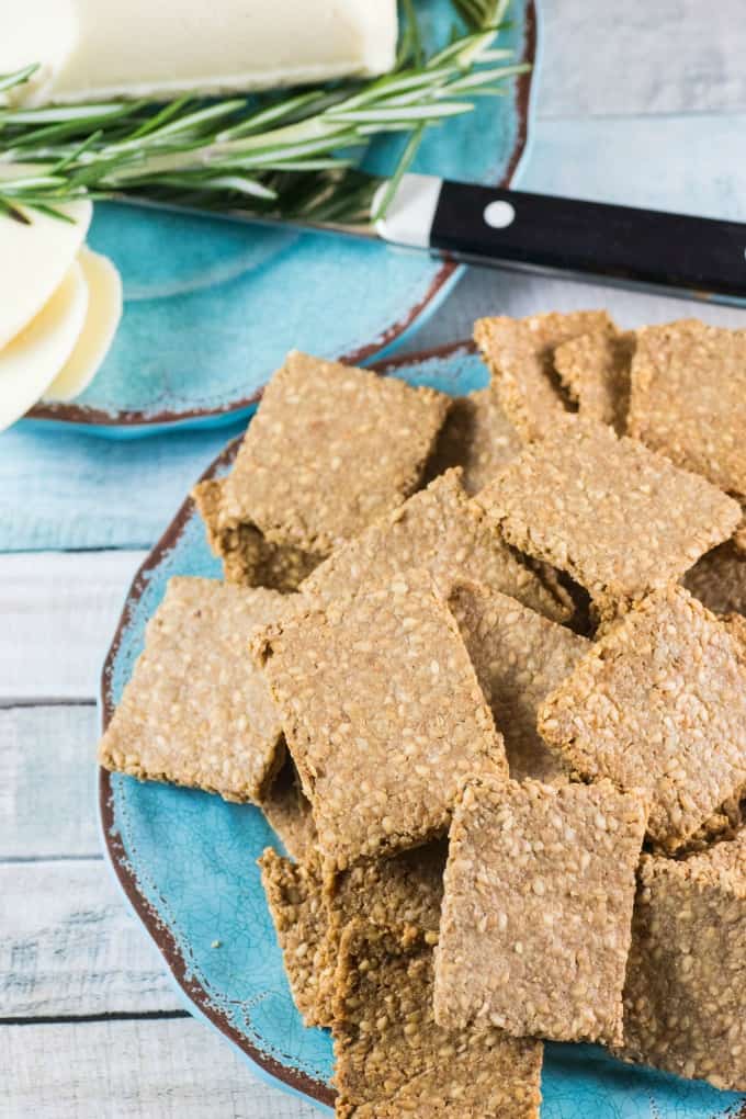
[[[538,26],[539,12],[537,0],[527,0],[526,15],[523,19],[525,35],[523,49],[520,62],[528,62],[531,68],[520,74],[516,82],[516,111],[518,131],[513,150],[510,154],[504,173],[495,184],[497,187],[509,187],[518,171],[529,143],[529,121],[531,116],[531,101],[536,92],[536,77],[538,70]],[[378,364],[383,359],[386,350],[397,342],[400,342],[410,331],[426,311],[433,307],[434,301],[444,291],[446,285],[455,282],[464,265],[457,264],[454,260],[444,260],[436,275],[431,282],[422,299],[410,307],[404,318],[387,327],[377,338],[348,354],[336,358],[346,365],[363,365],[376,360]],[[248,410],[254,407],[261,398],[262,391],[252,393],[239,401],[233,401],[224,406],[214,408],[186,408],[181,412],[166,410],[155,413],[144,413],[141,411],[107,412],[104,408],[93,408],[85,405],[70,403],[36,404],[23,417],[43,425],[70,424],[79,429],[108,429],[121,431],[142,430],[143,434],[155,433],[157,430],[178,430],[179,426],[189,422],[214,423],[230,419],[238,420]]]

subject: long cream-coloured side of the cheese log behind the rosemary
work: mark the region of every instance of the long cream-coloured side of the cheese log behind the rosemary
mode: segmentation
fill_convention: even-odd
[[[396,0],[72,2],[75,45],[49,92],[58,102],[381,74],[396,56]],[[36,27],[39,4],[13,4],[13,19]]]

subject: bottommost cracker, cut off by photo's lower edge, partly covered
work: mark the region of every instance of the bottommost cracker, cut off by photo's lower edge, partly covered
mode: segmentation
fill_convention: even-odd
[[[352,923],[333,1027],[342,1119],[538,1119],[541,1042],[433,1019],[432,950]]]

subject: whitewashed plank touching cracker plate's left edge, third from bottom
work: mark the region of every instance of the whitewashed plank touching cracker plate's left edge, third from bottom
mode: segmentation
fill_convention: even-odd
[[[95,707],[0,709],[0,863],[101,854],[97,737]]]

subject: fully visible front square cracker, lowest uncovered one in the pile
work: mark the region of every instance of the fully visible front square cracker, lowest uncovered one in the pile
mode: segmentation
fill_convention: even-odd
[[[470,782],[453,818],[435,1018],[620,1042],[645,805],[611,781]]]

